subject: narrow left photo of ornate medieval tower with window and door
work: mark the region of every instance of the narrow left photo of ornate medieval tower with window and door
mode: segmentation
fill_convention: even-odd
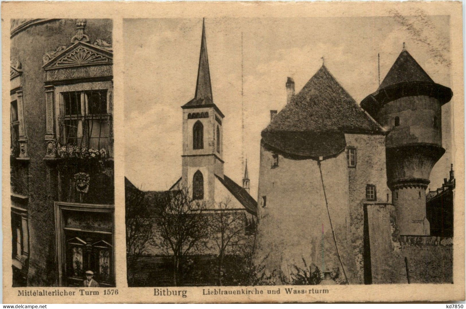
[[[13,287],[114,287],[113,22],[10,22]]]

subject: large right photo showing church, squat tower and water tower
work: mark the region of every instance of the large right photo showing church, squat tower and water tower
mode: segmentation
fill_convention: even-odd
[[[450,31],[123,19],[128,286],[453,283]]]

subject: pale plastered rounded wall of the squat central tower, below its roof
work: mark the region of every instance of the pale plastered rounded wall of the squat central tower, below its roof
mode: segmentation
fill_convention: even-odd
[[[255,263],[291,281],[295,266],[304,268],[304,259],[308,266],[339,269],[344,280],[341,260],[346,275],[351,277],[354,257],[349,236],[345,152],[320,163],[325,196],[317,161],[295,160],[279,154],[278,166],[274,167],[273,155],[261,145]]]

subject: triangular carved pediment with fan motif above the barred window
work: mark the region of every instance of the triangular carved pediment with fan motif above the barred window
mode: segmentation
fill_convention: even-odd
[[[59,47],[43,57],[45,70],[83,67],[95,65],[111,65],[113,54],[107,49],[78,41],[68,48]]]

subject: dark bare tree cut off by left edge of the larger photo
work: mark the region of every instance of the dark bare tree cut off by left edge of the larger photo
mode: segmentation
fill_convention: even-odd
[[[144,191],[125,188],[126,259],[129,283],[134,282],[137,261],[147,253],[147,245],[153,234],[152,221],[144,197]]]

